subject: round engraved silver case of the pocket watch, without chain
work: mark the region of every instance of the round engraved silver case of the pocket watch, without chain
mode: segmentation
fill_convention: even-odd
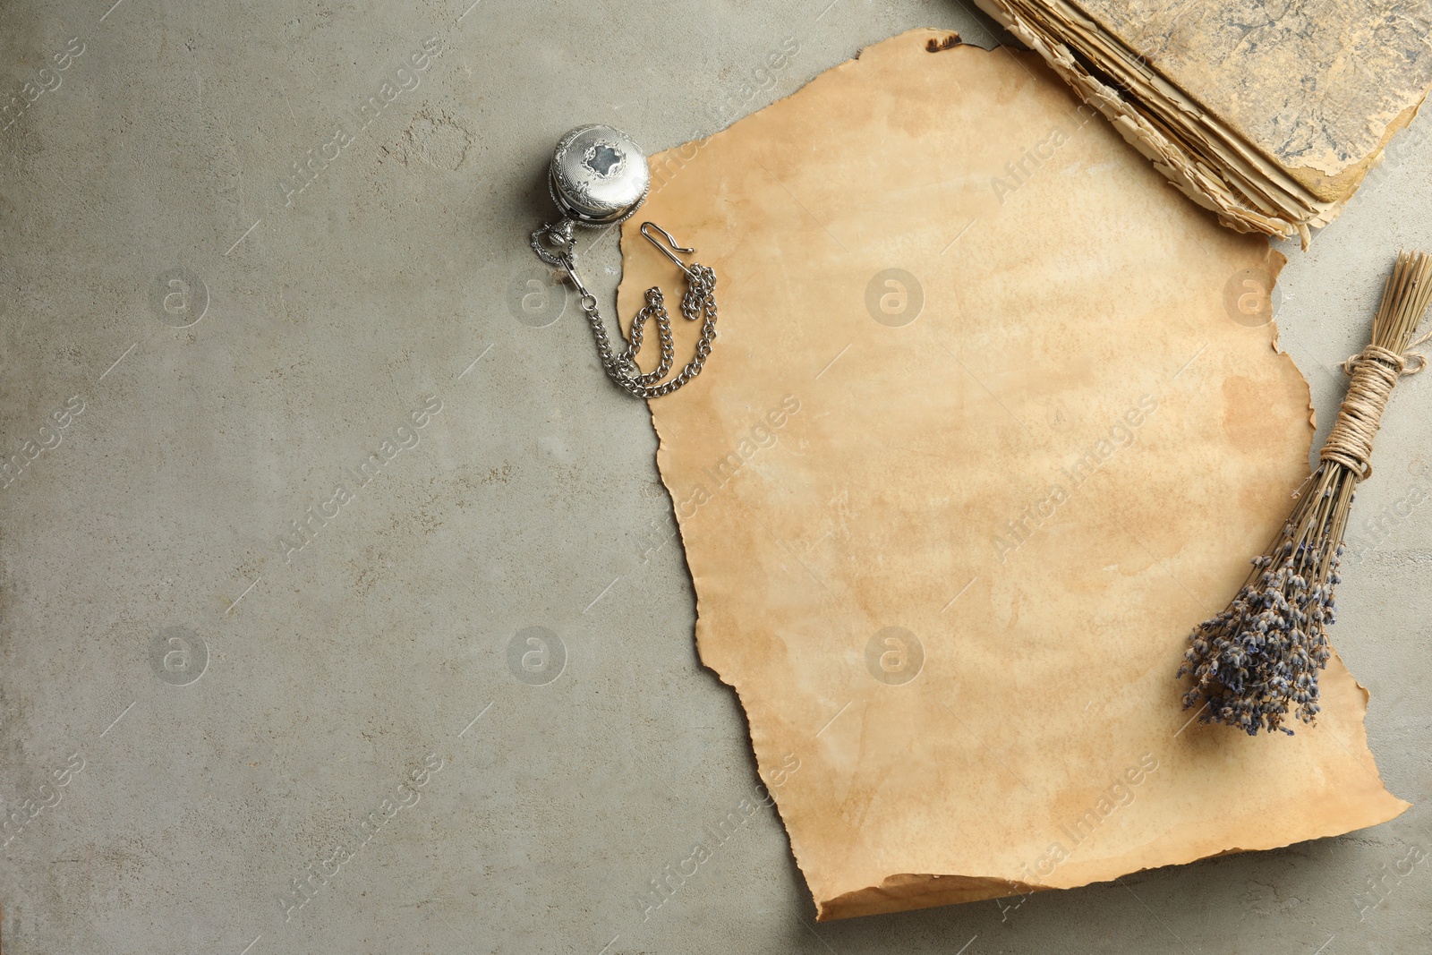
[[[611,126],[579,126],[551,156],[553,202],[580,225],[621,222],[637,210],[650,185],[642,149]]]

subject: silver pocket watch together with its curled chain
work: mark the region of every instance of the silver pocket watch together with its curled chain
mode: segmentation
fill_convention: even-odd
[[[696,262],[687,265],[679,259],[677,252],[690,253],[696,249],[677,245],[672,233],[654,222],[643,222],[642,235],[686,273],[682,316],[687,321],[703,319],[696,355],[680,372],[662,381],[672,369],[674,358],[672,319],[666,312],[662,289],[653,286],[646,291],[646,305],[632,319],[632,335],[626,342],[626,351],[616,354],[607,338],[606,322],[597,312],[597,298],[577,278],[576,229],[579,226],[610,229],[626,222],[642,208],[650,186],[652,172],[646,156],[630,136],[611,126],[579,126],[557,142],[547,173],[547,188],[561,218],[548,222],[531,236],[537,256],[547,265],[566,269],[571,283],[581,294],[581,311],[591,324],[597,354],[607,377],[637,398],[669,395],[702,374],[702,365],[706,364],[712,341],[716,338],[716,273],[705,265]],[[659,233],[660,239],[654,233]],[[643,374],[636,364],[636,355],[642,351],[642,331],[647,319],[656,319],[657,335],[662,339],[662,361],[654,371]],[[621,339],[620,328],[617,339]]]

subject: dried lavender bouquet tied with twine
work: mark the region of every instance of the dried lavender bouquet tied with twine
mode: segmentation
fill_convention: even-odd
[[[1200,706],[1201,723],[1236,726],[1249,736],[1283,726],[1292,713],[1317,716],[1317,672],[1327,666],[1327,624],[1355,488],[1372,474],[1369,458],[1388,397],[1402,375],[1426,367],[1409,352],[1432,301],[1432,255],[1400,252],[1372,324],[1372,344],[1349,358],[1348,395],[1319,452],[1317,470],[1296,493],[1297,504],[1233,603],[1189,636],[1179,677],[1191,676],[1184,709]]]

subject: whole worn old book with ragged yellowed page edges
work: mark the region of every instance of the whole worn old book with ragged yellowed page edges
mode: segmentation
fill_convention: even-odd
[[[1342,210],[1432,86],[1432,1],[977,0],[1240,232]]]

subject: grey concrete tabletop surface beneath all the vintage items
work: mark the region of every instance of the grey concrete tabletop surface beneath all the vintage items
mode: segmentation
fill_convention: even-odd
[[[997,37],[958,0],[468,3],[0,7],[6,952],[1428,948],[1418,378],[1333,634],[1406,815],[816,925],[762,808],[673,876],[759,780],[647,412],[527,249],[544,162],[581,122],[713,132],[909,27]],[[1285,249],[1323,431],[1393,252],[1432,248],[1429,123]],[[610,296],[614,243],[586,261]]]

